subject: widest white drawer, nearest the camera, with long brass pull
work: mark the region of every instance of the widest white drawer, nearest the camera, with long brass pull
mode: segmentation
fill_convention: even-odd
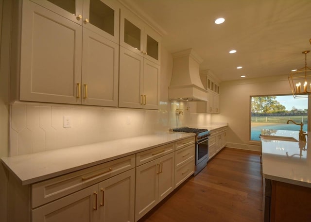
[[[135,154],[32,185],[32,207],[46,204],[135,167]]]

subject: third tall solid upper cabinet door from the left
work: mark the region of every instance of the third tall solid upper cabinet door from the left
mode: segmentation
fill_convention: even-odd
[[[143,57],[120,47],[119,106],[143,107]]]

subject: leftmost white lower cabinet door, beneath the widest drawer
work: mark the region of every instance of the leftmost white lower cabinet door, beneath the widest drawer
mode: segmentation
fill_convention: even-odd
[[[32,210],[32,222],[97,222],[98,185]]]

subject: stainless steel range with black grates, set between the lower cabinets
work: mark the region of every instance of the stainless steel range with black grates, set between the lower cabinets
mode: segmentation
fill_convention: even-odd
[[[194,175],[198,174],[207,165],[208,140],[210,136],[209,131],[207,129],[196,129],[196,128],[189,128],[189,127],[175,128],[173,129],[173,131],[196,134]]]

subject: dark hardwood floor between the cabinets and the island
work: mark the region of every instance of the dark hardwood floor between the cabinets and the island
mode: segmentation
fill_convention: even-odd
[[[259,152],[224,148],[139,222],[262,222]]]

